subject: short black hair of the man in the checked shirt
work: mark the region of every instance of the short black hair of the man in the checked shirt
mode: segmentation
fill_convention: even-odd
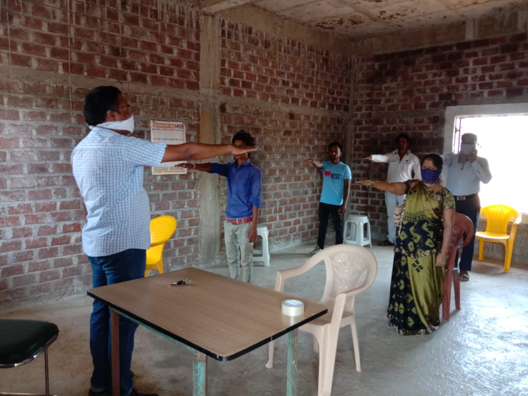
[[[102,86],[93,88],[82,102],[82,114],[88,125],[102,124],[108,110],[119,111],[119,95],[116,87]]]

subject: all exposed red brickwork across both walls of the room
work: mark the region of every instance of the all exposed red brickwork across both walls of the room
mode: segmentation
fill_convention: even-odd
[[[70,153],[87,133],[80,108],[95,86],[114,84],[127,93],[140,137],[149,138],[151,119],[182,120],[187,141],[199,141],[206,100],[218,110],[218,142],[241,128],[255,135],[261,148],[252,160],[265,182],[262,220],[275,249],[315,240],[320,176],[303,161],[323,159],[331,140],[353,148],[347,158],[354,178],[382,179],[386,168],[361,158],[390,151],[400,131],[410,133],[418,155],[440,152],[446,106],[528,101],[526,34],[354,59],[346,46],[328,50],[309,37],[281,37],[217,17],[219,59],[204,60],[202,16],[190,5],[0,5],[2,308],[90,286]],[[209,61],[219,63],[218,81],[204,98],[200,71]],[[211,242],[201,238],[201,183],[192,174],[145,172],[153,215],[178,219],[164,252],[169,268],[199,265],[203,243]],[[223,213],[223,182],[218,196]],[[384,236],[381,193],[353,186],[351,206],[370,215],[375,237]]]

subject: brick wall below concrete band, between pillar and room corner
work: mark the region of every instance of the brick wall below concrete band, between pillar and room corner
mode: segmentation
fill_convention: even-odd
[[[322,177],[305,160],[326,159],[326,145],[344,141],[345,122],[229,106],[222,114],[222,126],[226,143],[236,131],[246,129],[261,147],[251,154],[251,161],[263,174],[259,221],[270,229],[270,244],[279,247],[314,240]],[[219,196],[225,197],[225,183],[222,186]],[[224,208],[224,203],[221,206]]]

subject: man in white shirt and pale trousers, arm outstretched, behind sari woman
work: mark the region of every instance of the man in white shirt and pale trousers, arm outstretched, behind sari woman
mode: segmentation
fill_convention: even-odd
[[[421,180],[420,160],[411,153],[409,146],[411,139],[406,134],[399,134],[395,139],[398,148],[393,152],[383,155],[369,155],[365,157],[367,161],[384,162],[389,164],[387,171],[387,181],[406,182],[413,178]],[[380,243],[380,246],[392,246],[396,241],[396,226],[394,225],[393,214],[396,205],[401,205],[406,195],[395,195],[385,192],[385,206],[387,208],[387,239]]]

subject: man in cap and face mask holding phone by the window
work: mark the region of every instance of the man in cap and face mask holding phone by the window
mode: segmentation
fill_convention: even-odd
[[[455,197],[455,210],[471,219],[475,231],[480,214],[480,182],[487,184],[492,179],[487,159],[477,156],[476,144],[477,135],[464,134],[461,137],[459,153],[442,155],[444,168],[447,170],[446,187]],[[474,249],[475,234],[472,241],[462,249],[458,263],[461,281],[469,280],[468,271],[471,271]]]

